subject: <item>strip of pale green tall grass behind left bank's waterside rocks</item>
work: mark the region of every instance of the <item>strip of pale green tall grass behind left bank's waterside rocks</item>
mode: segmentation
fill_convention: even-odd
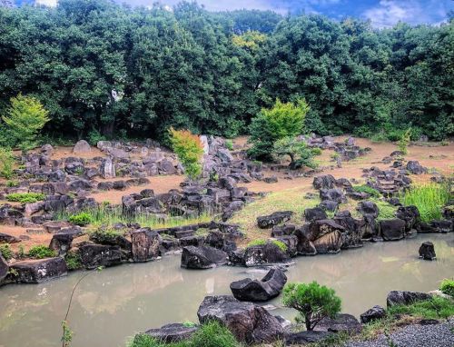
[[[194,216],[171,216],[166,215],[164,218],[158,218],[155,215],[147,213],[136,213],[127,215],[122,212],[121,206],[101,205],[98,208],[85,210],[87,218],[91,221],[90,225],[94,227],[112,226],[116,223],[138,223],[141,227],[152,229],[173,228],[177,226],[210,223],[215,218],[212,213],[202,213]],[[71,214],[58,213],[57,220],[67,221],[72,218]]]

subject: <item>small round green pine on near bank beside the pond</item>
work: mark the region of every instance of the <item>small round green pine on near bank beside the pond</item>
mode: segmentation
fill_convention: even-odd
[[[297,322],[304,322],[308,331],[325,317],[341,312],[341,298],[333,289],[312,283],[288,283],[283,290],[282,302],[299,312]]]

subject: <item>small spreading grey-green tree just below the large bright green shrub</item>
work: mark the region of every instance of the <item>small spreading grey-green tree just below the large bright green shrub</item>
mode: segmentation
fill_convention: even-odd
[[[273,145],[272,154],[278,158],[288,155],[292,169],[302,166],[311,167],[312,169],[317,167],[317,164],[313,161],[313,157],[316,155],[314,151],[296,137],[284,137],[277,140]]]

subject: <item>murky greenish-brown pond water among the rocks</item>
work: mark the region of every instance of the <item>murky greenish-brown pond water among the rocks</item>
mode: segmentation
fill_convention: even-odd
[[[432,241],[438,260],[418,259],[420,243]],[[61,325],[74,283],[84,273],[42,284],[0,288],[0,347],[61,346]],[[180,268],[178,255],[152,263],[127,264],[87,276],[74,293],[69,323],[73,347],[124,346],[128,336],[167,322],[197,322],[205,295],[229,294],[229,284],[253,269],[220,267],[205,271]],[[429,291],[454,275],[454,234],[419,235],[395,243],[367,243],[336,255],[295,258],[291,282],[318,281],[333,287],[342,311],[359,316],[384,305],[391,290]],[[281,299],[268,302],[274,314],[291,319]]]

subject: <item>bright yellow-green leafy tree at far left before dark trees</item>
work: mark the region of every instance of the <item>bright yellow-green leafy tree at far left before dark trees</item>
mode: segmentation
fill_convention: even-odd
[[[35,148],[38,133],[50,120],[43,104],[35,97],[18,94],[2,116],[8,138],[23,151]]]

